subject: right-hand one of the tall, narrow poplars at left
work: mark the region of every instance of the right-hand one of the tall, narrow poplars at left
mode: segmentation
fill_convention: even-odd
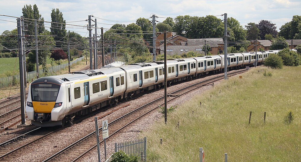
[[[56,47],[62,48],[63,41],[66,40],[66,20],[63,18],[63,14],[58,8],[52,9],[51,12],[51,27],[50,31],[52,35],[57,35],[54,37],[56,41]]]

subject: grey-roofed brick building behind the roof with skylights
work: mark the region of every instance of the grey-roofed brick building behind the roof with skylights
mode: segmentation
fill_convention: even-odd
[[[213,55],[219,55],[224,51],[224,40],[223,38],[200,38],[200,39],[187,39],[186,45],[210,45],[210,53]]]

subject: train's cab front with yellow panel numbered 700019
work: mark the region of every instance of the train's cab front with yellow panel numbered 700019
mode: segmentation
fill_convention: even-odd
[[[51,120],[53,109],[62,106],[62,102],[57,101],[60,87],[61,83],[51,77],[39,78],[30,84],[26,113],[33,125],[56,126],[62,124],[62,120]]]

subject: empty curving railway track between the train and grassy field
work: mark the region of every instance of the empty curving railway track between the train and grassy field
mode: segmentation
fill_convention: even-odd
[[[228,76],[236,75],[239,73],[243,73],[246,70],[241,70],[233,73],[229,73]],[[201,81],[199,83],[192,84],[190,86],[184,87],[182,89],[179,89],[175,92],[169,93],[168,94],[168,101],[170,102],[174,100],[175,98],[180,97],[181,95],[184,95],[188,92],[191,92],[195,89],[200,88],[201,86],[208,85],[210,83],[213,83],[217,80],[223,79],[223,75],[221,76],[216,76],[204,81]],[[183,91],[183,92],[182,92]],[[163,103],[162,103],[163,102]],[[130,125],[134,121],[144,117],[146,114],[154,111],[157,109],[159,106],[164,105],[164,96],[155,99],[154,101],[151,101],[141,107],[136,108],[135,110],[124,114],[123,116],[109,121],[109,126],[110,126],[110,132],[113,132],[109,135],[109,138],[114,136],[116,133],[118,133],[120,130],[125,128],[126,126]],[[102,128],[98,129],[99,131]],[[103,140],[101,141],[101,143]],[[88,154],[91,150],[96,148],[96,136],[95,136],[95,131],[89,133],[87,136],[79,139],[78,141],[72,143],[71,145],[67,146],[66,148],[62,149],[61,151],[57,152],[56,154],[53,154],[52,156],[48,157],[45,159],[43,162],[48,162],[48,161],[77,161],[86,154]]]

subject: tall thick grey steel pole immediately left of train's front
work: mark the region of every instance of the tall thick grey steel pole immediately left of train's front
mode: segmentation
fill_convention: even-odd
[[[21,124],[25,124],[25,90],[24,90],[24,64],[23,64],[23,33],[21,19],[17,18],[18,48],[19,48],[19,71],[20,71],[20,97],[21,97]]]

